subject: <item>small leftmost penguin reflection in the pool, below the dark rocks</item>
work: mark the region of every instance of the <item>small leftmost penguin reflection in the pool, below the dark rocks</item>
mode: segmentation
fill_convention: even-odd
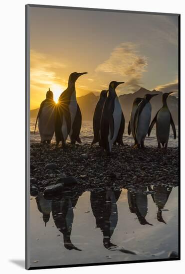
[[[40,213],[43,214],[42,217],[46,226],[50,218],[51,200],[45,200],[43,197],[43,194],[37,195],[35,199],[36,199],[38,210],[40,211]]]

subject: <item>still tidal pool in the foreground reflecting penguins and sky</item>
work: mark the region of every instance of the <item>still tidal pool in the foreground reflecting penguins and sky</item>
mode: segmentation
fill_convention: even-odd
[[[178,187],[30,197],[30,267],[167,259],[178,253]]]

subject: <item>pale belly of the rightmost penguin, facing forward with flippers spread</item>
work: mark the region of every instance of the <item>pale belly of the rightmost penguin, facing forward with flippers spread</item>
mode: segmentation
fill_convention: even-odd
[[[170,112],[169,110],[161,109],[157,115],[156,135],[158,142],[167,142],[170,134]]]

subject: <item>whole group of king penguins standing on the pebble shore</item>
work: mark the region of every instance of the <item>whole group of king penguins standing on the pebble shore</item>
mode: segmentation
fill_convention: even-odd
[[[35,123],[38,121],[38,129],[42,143],[50,143],[55,133],[56,146],[62,143],[65,147],[66,139],[69,136],[71,144],[76,141],[81,143],[80,130],[82,115],[76,100],[75,82],[87,72],[73,72],[69,76],[68,87],[61,93],[58,103],[53,100],[53,93],[50,89],[46,93],[46,99],[41,103]],[[112,81],[108,90],[100,93],[99,101],[96,105],[93,116],[94,143],[99,143],[103,150],[109,154],[113,144],[124,145],[123,134],[125,131],[125,118],[121,105],[116,94],[116,87],[124,82]],[[161,144],[167,148],[170,125],[172,126],[174,138],[176,139],[176,128],[167,105],[167,98],[171,94],[163,94],[163,106],[157,112],[151,125],[152,106],[150,100],[158,94],[146,94],[144,98],[136,98],[133,102],[128,134],[134,138],[134,147],[144,148],[144,141],[148,134],[150,136],[152,128],[156,124],[156,135],[158,147]],[[35,131],[34,131],[35,132]]]

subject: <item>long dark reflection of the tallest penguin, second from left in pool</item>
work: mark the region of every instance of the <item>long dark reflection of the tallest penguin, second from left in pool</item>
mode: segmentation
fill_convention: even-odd
[[[64,247],[68,250],[78,250],[71,243],[71,230],[73,224],[73,207],[76,206],[79,195],[75,195],[75,193],[71,194],[63,194],[63,196],[59,200],[52,200],[52,216],[57,229],[63,234]]]

